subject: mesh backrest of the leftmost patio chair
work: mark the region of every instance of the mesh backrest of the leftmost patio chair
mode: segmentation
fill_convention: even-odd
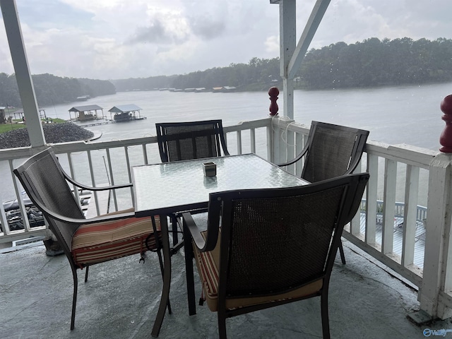
[[[64,170],[51,148],[30,157],[14,169],[23,189],[49,222],[66,255],[70,254],[72,236],[78,225],[55,218],[85,219],[81,207],[66,182]]]

